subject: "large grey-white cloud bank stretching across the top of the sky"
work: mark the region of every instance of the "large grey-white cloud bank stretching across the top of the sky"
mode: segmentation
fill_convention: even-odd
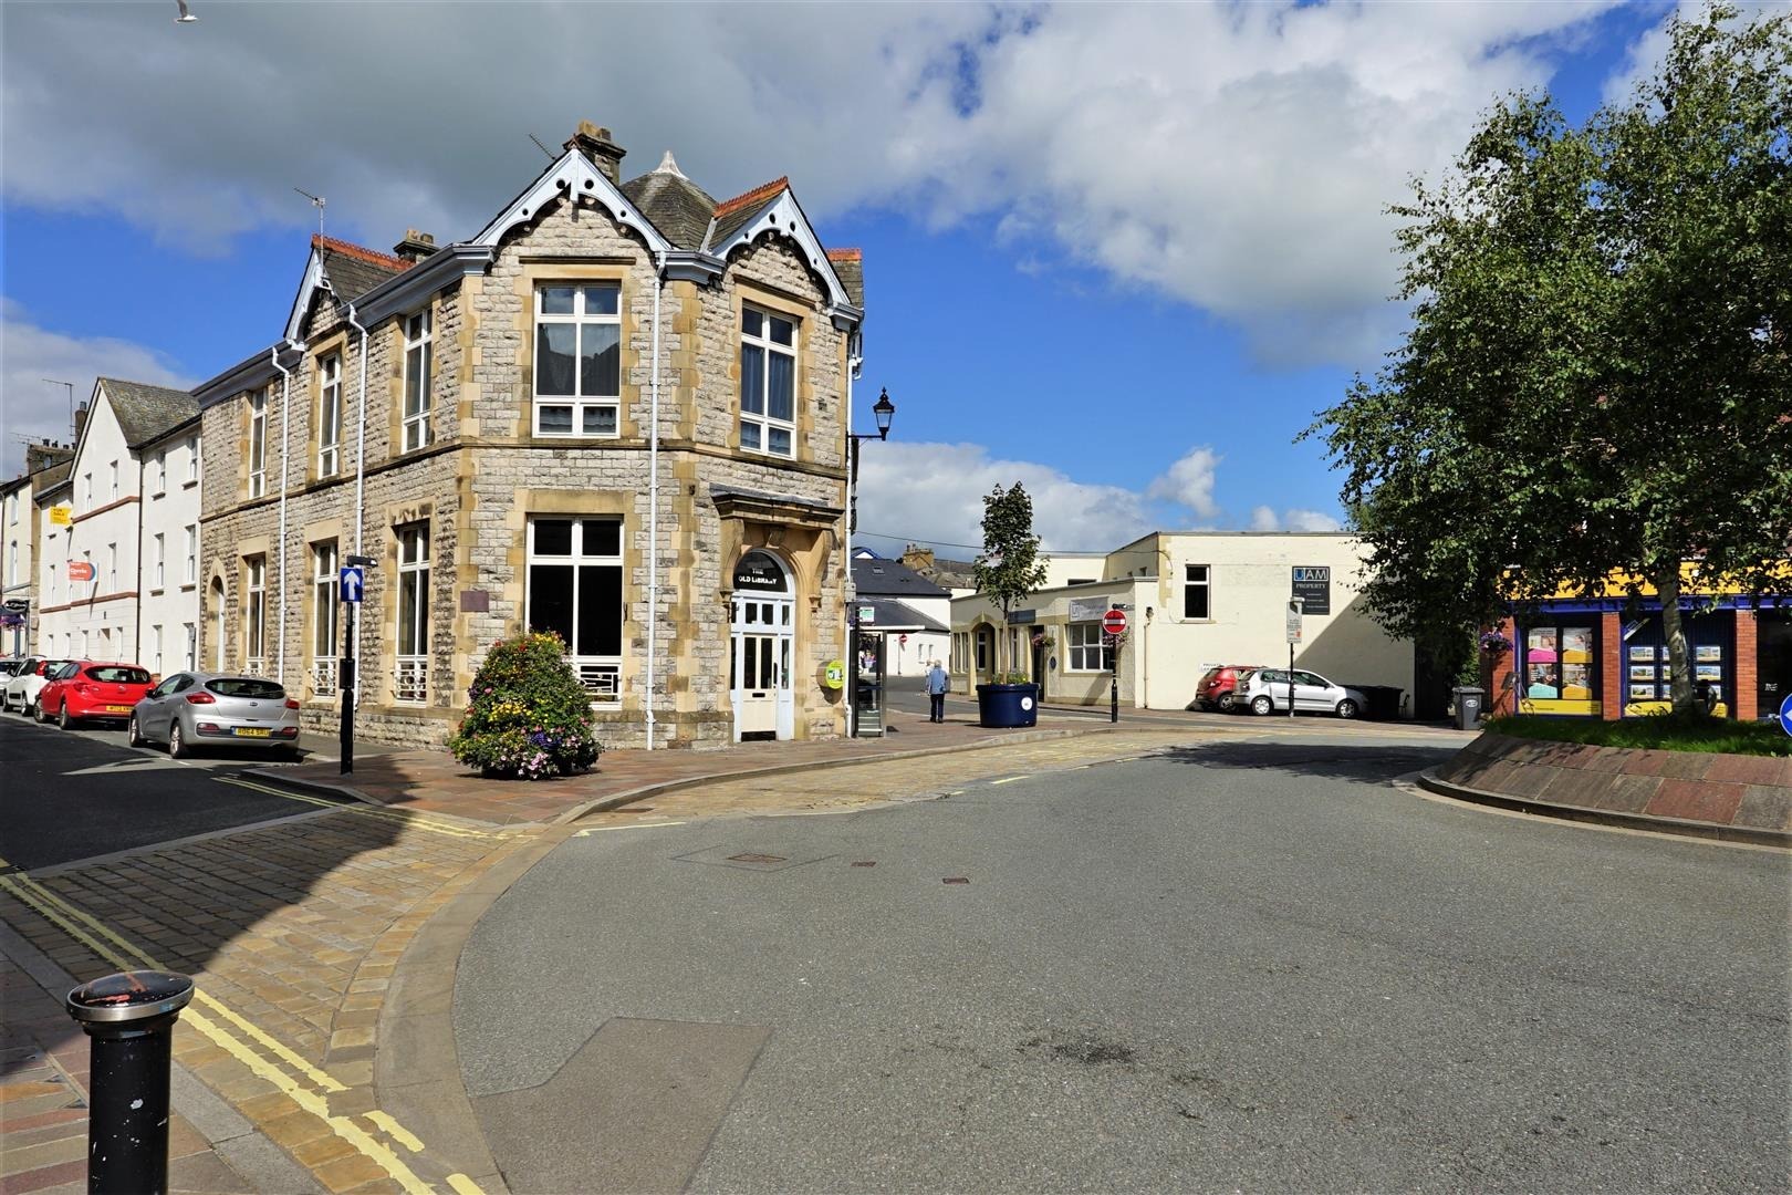
[[[219,249],[305,226],[305,186],[375,245],[453,238],[590,116],[719,195],[986,215],[1030,267],[1360,364],[1400,317],[1383,208],[1602,7],[9,4],[5,195]]]

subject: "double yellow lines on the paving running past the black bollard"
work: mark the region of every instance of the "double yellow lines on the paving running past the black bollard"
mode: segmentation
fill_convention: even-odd
[[[147,955],[140,948],[133,946],[125,939],[113,933],[109,926],[95,919],[91,914],[70,905],[68,901],[56,896],[43,885],[34,883],[29,876],[0,876],[0,889],[11,892],[18,901],[29,905],[30,908],[36,908],[38,914],[41,914],[47,921],[50,921],[50,924],[57,926],[59,930],[63,930],[63,933],[75,939],[77,942],[91,950],[99,959],[104,959],[120,971],[133,971],[138,967],[154,967],[158,971],[168,969],[163,964],[156,962],[151,955]],[[116,942],[124,953],[115,953],[108,946],[95,941],[90,933],[86,933],[81,928],[81,923],[86,923],[102,937]],[[281,1043],[269,1037],[265,1032],[262,1032],[260,1028],[240,1018],[231,1009],[224,1007],[222,1002],[197,991],[197,987],[194,989],[194,1003],[188,1005],[183,1014],[185,1023],[192,1025],[201,1036],[208,1037],[211,1045],[219,1046],[220,1050],[235,1057],[238,1062],[247,1066],[254,1075],[271,1082],[301,1109],[305,1109],[317,1120],[324,1122],[332,1132],[348,1141],[348,1145],[351,1145],[358,1154],[362,1154],[376,1166],[385,1170],[385,1174],[389,1174],[392,1181],[398,1182],[398,1186],[401,1186],[407,1191],[407,1195],[432,1195],[430,1184],[419,1179],[416,1172],[412,1172],[403,1161],[400,1161],[398,1154],[389,1150],[385,1145],[380,1145],[380,1141],[373,1139],[360,1125],[357,1125],[348,1116],[332,1116],[328,1095],[319,1095],[317,1091],[305,1088],[297,1079],[274,1066],[267,1057],[263,1057],[249,1045],[240,1041],[222,1025],[213,1023],[211,1018],[206,1016],[206,1012],[201,1012],[201,1007],[219,1014],[220,1018],[246,1030],[253,1039],[260,1041],[280,1059],[287,1061],[289,1064],[296,1064],[299,1073],[315,1082],[317,1086],[321,1086],[324,1093],[346,1091],[346,1088],[340,1082],[337,1082],[330,1075],[324,1075],[310,1062],[301,1059],[297,1053],[294,1053]],[[387,1116],[387,1120],[391,1118]],[[392,1122],[392,1129],[403,1132],[398,1122]],[[409,1132],[405,1136],[416,1141],[416,1138],[410,1136]],[[475,1191],[478,1191],[478,1188],[473,1186],[471,1181],[468,1181],[466,1186],[455,1186],[450,1181],[450,1186],[453,1186],[455,1191],[464,1191],[466,1195],[473,1195]]]

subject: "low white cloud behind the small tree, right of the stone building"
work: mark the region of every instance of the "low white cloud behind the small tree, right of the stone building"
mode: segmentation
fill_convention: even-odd
[[[1047,550],[1107,550],[1152,529],[1143,500],[1131,489],[1077,482],[1032,460],[1000,460],[982,444],[889,441],[867,448],[860,469],[862,536],[980,545],[984,496],[1016,482],[1032,496],[1032,529]],[[975,548],[944,552],[969,559]]]

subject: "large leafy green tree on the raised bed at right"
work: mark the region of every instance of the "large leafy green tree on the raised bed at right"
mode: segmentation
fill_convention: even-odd
[[[1414,305],[1303,435],[1346,469],[1371,613],[1448,645],[1559,588],[1760,595],[1792,545],[1792,18],[1672,18],[1624,104],[1514,97],[1392,211]]]

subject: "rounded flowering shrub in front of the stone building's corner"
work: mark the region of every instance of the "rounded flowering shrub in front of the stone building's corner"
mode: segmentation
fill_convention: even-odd
[[[495,643],[468,697],[448,751],[480,774],[541,779],[597,763],[591,699],[557,634]]]

